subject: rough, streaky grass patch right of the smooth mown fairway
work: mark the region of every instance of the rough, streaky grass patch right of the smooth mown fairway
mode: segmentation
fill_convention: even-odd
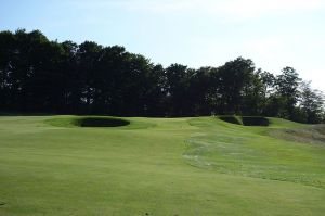
[[[191,125],[199,124],[204,127],[200,122],[198,118],[191,119]],[[229,128],[224,130],[216,122],[218,119],[206,119],[206,134],[186,140],[188,150],[184,155],[192,165],[224,174],[290,181],[325,189],[325,173],[322,170],[325,168],[324,148],[284,142],[265,136],[269,131],[286,131],[280,129],[282,124],[272,124],[270,128],[227,124]],[[212,128],[212,124],[218,126]],[[284,120],[284,124],[288,123]],[[302,129],[301,125],[294,123],[291,127],[294,131],[312,128]],[[298,128],[294,129],[295,127]]]

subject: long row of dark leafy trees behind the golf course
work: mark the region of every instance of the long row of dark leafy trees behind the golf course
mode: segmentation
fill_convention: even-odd
[[[322,92],[237,58],[219,67],[164,67],[123,47],[0,33],[0,111],[118,116],[238,114],[324,122]]]

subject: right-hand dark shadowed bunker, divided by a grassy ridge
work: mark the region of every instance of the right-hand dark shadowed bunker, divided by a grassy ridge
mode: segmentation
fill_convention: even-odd
[[[260,116],[220,116],[219,119],[244,126],[269,126],[270,122]]]

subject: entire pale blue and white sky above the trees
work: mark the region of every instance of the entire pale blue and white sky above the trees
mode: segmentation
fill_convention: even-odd
[[[155,63],[220,66],[237,56],[292,66],[325,91],[323,0],[0,0],[0,30],[121,45]]]

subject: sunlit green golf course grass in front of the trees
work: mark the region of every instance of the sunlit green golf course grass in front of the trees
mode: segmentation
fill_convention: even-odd
[[[80,118],[0,117],[1,216],[324,215],[325,143],[278,136],[322,127]]]

